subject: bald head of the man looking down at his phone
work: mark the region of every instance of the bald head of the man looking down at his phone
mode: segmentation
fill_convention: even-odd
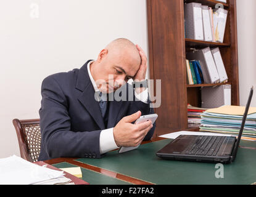
[[[138,47],[128,39],[119,38],[101,50],[97,60],[90,66],[90,70],[94,81],[102,81],[102,79],[105,81],[101,84],[101,91],[111,92],[129,79],[133,79],[141,62]]]

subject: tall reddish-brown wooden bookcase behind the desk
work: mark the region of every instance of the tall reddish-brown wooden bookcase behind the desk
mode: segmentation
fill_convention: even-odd
[[[188,2],[200,2],[212,8],[222,3],[215,0],[147,0],[150,78],[161,79],[162,92],[161,105],[154,109],[159,115],[154,137],[171,131],[196,131],[198,125],[188,124],[188,103],[200,107],[200,89],[204,87],[231,84],[231,103],[239,105],[236,0],[222,3],[228,10],[223,43],[185,38],[184,4]],[[220,48],[228,83],[188,85],[186,52],[208,46]]]

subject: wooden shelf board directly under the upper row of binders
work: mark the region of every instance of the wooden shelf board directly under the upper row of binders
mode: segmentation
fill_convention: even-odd
[[[186,47],[230,47],[230,44],[220,43],[220,42],[207,42],[207,41],[198,41],[196,39],[185,38]]]

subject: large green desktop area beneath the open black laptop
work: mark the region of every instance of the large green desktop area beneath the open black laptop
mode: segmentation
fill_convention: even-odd
[[[171,161],[157,157],[155,153],[171,139],[146,143],[126,153],[112,151],[104,158],[80,158],[76,161],[118,172],[155,184],[251,184],[256,182],[256,150],[239,148],[234,163],[224,164],[224,178],[215,177],[216,164],[187,161]],[[241,141],[244,147],[255,142]],[[254,144],[255,145],[255,144]],[[89,180],[86,180],[90,183]],[[97,183],[97,182],[95,182]],[[107,182],[105,182],[107,183]]]

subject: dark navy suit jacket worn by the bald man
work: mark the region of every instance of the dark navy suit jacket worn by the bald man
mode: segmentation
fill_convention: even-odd
[[[124,116],[138,110],[142,115],[154,113],[149,104],[141,101],[110,101],[105,127],[99,103],[94,99],[88,62],[80,69],[52,74],[43,80],[39,161],[59,157],[101,158],[99,136],[103,129],[114,127]],[[128,83],[125,86],[127,92],[132,88]],[[144,140],[151,139],[154,129],[155,124]]]

